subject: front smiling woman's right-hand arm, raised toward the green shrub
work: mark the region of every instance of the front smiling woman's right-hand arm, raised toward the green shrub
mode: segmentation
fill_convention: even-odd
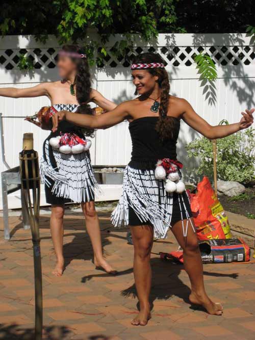
[[[187,100],[181,100],[183,120],[194,130],[210,139],[223,138],[232,135],[244,128],[251,126],[251,124],[253,123],[252,114],[254,112],[254,109],[251,109],[245,110],[245,112],[241,113],[243,117],[241,118],[239,123],[212,126],[193,110],[192,106]]]

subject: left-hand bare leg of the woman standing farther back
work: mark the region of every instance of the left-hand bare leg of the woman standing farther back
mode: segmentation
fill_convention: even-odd
[[[57,256],[57,264],[53,270],[53,274],[61,276],[64,269],[64,256],[63,256],[63,219],[64,219],[65,206],[52,205],[52,215],[50,216],[50,232],[52,233],[52,241]]]

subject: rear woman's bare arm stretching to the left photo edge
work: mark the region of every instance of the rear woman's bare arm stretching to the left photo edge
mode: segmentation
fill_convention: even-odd
[[[33,87],[28,87],[25,89],[17,89],[15,87],[6,87],[0,89],[0,96],[11,97],[11,98],[21,98],[21,97],[39,97],[48,96],[48,86],[47,83],[42,83]]]

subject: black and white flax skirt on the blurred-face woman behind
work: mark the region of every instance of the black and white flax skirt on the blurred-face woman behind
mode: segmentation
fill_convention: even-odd
[[[45,184],[49,204],[89,202],[95,199],[99,186],[93,174],[89,151],[64,154],[49,145],[50,135],[43,145],[40,164],[41,179]]]

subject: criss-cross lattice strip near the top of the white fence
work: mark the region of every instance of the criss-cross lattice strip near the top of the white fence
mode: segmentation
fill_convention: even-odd
[[[194,64],[194,56],[208,53],[218,65],[237,66],[255,63],[255,53],[252,46],[158,46],[136,47],[134,51],[127,51],[125,56],[116,58],[109,48],[103,63],[98,67],[130,67],[135,55],[143,52],[157,52],[165,61],[166,66],[191,66]],[[25,55],[34,62],[35,69],[42,67],[56,67],[58,48],[34,48],[34,49],[6,49],[0,52],[0,65],[7,70],[18,68],[19,56]]]

